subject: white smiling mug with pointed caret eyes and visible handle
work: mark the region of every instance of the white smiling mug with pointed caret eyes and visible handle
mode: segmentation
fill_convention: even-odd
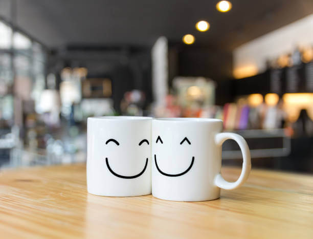
[[[222,121],[204,118],[152,120],[152,194],[172,201],[207,201],[220,197],[220,188],[242,185],[251,170],[247,142],[234,133],[220,133]],[[221,176],[221,145],[235,140],[243,164],[239,179]]]

